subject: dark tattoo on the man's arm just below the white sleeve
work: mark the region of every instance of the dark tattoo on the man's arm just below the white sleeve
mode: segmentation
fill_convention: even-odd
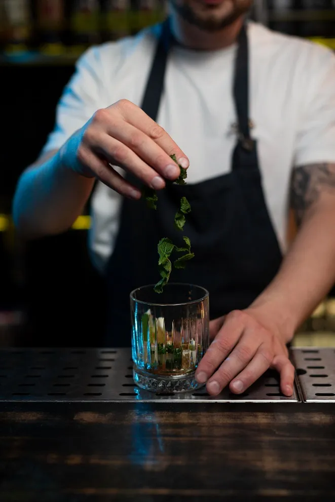
[[[290,205],[298,225],[323,192],[335,195],[335,163],[309,164],[293,170]]]

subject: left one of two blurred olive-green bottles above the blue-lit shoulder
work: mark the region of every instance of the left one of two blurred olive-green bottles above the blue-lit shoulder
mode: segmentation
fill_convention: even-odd
[[[75,0],[70,17],[71,52],[81,54],[101,41],[99,0]]]

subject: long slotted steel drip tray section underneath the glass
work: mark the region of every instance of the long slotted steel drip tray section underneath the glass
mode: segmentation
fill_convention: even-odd
[[[142,402],[298,402],[280,393],[269,371],[247,393],[224,390],[218,397],[204,388],[193,393],[153,393],[134,385],[130,349],[0,350],[0,401],[142,401]]]

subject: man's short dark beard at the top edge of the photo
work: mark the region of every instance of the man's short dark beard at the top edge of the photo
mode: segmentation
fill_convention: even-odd
[[[205,4],[201,0],[169,1],[182,19],[204,31],[219,31],[229,26],[252,5],[252,0],[224,0],[218,5]]]

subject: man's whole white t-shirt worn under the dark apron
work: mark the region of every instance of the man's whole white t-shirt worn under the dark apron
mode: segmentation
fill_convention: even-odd
[[[160,26],[89,49],[57,108],[44,151],[60,148],[99,108],[126,98],[140,105]],[[286,250],[294,166],[335,162],[335,56],[321,46],[249,22],[250,118],[270,217]],[[188,155],[188,183],[229,172],[236,136],[232,98],[236,45],[207,52],[175,47],[157,122]],[[98,183],[90,249],[103,270],[113,253],[122,198]]]

